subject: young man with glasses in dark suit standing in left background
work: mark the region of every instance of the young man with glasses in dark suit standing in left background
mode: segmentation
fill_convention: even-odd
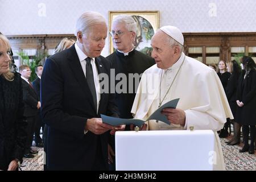
[[[32,150],[31,146],[35,131],[36,114],[40,109],[40,101],[29,80],[31,76],[30,67],[28,65],[20,65],[19,73],[22,77],[24,116],[27,117],[27,143],[24,158],[34,158],[33,154],[37,154],[38,151]]]

